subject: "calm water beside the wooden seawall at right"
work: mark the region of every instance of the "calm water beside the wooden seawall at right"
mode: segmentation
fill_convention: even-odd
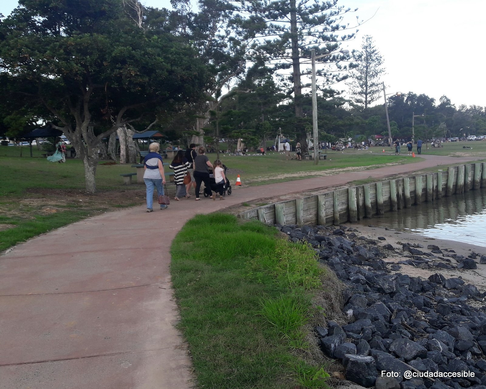
[[[361,220],[398,231],[486,247],[486,189],[412,205],[382,217]]]

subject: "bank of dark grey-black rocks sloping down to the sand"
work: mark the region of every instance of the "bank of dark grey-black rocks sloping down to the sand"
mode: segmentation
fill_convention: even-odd
[[[312,244],[319,261],[348,287],[343,293],[347,322],[314,328],[323,354],[342,362],[348,380],[387,389],[486,389],[485,307],[471,305],[483,302],[485,293],[439,273],[425,280],[392,273],[383,259],[397,249],[359,237],[357,230],[277,227],[291,241]],[[410,260],[424,263],[410,245],[401,249]],[[434,266],[428,259],[426,266]],[[459,268],[465,263],[474,268],[470,260],[456,258]],[[463,377],[451,374],[463,372]],[[435,375],[416,377],[420,373]]]

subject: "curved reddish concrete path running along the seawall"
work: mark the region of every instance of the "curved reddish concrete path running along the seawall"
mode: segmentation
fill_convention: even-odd
[[[253,199],[474,160],[422,157],[417,164],[233,186],[224,202],[192,196],[152,213],[143,204],[19,244],[0,257],[0,388],[191,388],[169,274],[171,241],[186,220]]]

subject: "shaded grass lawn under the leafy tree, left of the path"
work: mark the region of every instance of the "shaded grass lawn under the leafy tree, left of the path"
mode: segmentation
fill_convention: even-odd
[[[20,150],[24,156],[19,157]],[[0,252],[54,228],[119,207],[142,204],[145,186],[122,185],[130,165],[98,166],[99,191],[84,192],[83,163],[52,163],[28,146],[0,147]]]

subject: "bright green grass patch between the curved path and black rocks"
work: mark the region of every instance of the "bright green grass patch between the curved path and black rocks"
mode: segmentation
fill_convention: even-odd
[[[259,222],[211,214],[189,220],[171,254],[179,328],[200,388],[295,388],[327,379],[320,367],[304,374],[308,362],[298,357],[311,347],[306,323],[324,272],[311,247]]]

